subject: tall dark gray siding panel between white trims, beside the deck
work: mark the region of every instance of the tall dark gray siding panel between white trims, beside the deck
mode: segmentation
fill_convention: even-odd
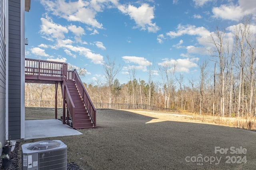
[[[20,49],[20,0],[9,0],[9,135],[11,139],[20,139],[21,117],[21,49]]]

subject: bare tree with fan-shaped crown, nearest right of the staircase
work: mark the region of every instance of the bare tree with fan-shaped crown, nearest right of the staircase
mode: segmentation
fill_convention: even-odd
[[[111,94],[112,94],[112,84],[115,76],[120,72],[121,66],[116,66],[115,59],[112,61],[110,57],[107,55],[107,61],[105,61],[103,67],[105,72],[105,78],[109,87],[109,108],[111,109]]]

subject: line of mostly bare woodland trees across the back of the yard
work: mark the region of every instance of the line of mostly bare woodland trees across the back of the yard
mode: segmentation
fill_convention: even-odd
[[[148,65],[148,78],[136,77],[136,67],[130,67],[130,80],[120,84],[116,75],[121,70],[107,56],[104,64],[106,84],[84,84],[93,103],[120,103],[163,107],[227,117],[256,116],[256,25],[245,18],[226,29],[216,27],[208,35],[210,60],[199,65],[198,79],[185,80],[177,75],[175,63],[163,63],[155,69]],[[214,65],[214,69],[212,68]],[[158,70],[161,80],[153,81]],[[54,100],[55,86],[26,84],[25,100]],[[62,100],[60,88],[58,101]],[[39,104],[40,105],[40,104]]]

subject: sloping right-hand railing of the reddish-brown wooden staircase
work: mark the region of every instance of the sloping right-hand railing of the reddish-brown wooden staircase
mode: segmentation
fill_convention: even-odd
[[[84,84],[82,83],[76,69],[72,70],[72,79],[75,80],[76,85],[78,87],[78,90],[82,96],[82,99],[84,101],[84,104],[88,110],[88,113],[92,119],[92,123],[94,125],[94,127],[96,127],[96,109],[94,107],[94,105],[92,104],[92,101],[84,87]]]

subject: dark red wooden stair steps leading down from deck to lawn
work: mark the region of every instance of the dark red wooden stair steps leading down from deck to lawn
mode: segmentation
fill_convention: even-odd
[[[72,120],[72,127],[74,129],[94,127],[92,119],[90,118],[84,101],[82,100],[82,96],[80,95],[80,92],[76,86],[76,82],[73,80],[67,80],[66,85],[75,106],[75,113],[70,115],[70,119]],[[71,109],[70,106],[68,106],[68,103],[67,108]]]

